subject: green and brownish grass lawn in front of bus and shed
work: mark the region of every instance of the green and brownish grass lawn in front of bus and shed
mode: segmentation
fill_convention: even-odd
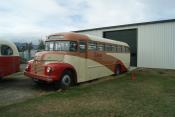
[[[175,72],[137,70],[0,108],[0,117],[175,117]]]

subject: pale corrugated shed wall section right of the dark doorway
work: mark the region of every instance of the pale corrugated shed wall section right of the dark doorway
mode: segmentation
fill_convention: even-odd
[[[175,23],[139,26],[138,66],[175,69]]]

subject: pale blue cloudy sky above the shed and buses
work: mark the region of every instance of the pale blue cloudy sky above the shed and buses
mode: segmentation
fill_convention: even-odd
[[[175,19],[175,0],[0,0],[0,38],[37,42],[47,35]]]

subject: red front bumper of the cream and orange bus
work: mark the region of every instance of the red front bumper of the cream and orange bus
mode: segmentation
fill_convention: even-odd
[[[42,75],[38,75],[38,74],[33,74],[33,73],[29,73],[24,71],[24,75],[28,76],[34,80],[42,80],[42,81],[46,81],[48,83],[53,82],[54,77],[53,76],[42,76]]]

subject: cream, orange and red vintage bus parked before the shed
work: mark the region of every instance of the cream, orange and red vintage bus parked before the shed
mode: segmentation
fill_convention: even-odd
[[[24,72],[35,82],[68,87],[118,75],[130,66],[129,46],[120,41],[70,32],[50,35],[45,44],[45,51],[36,53]]]

